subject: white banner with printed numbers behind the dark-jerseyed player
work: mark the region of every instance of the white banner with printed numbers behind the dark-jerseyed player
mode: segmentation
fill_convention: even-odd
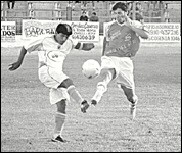
[[[112,22],[104,22],[103,35],[105,29]],[[145,29],[149,32],[148,39],[141,39],[142,42],[180,42],[180,24],[179,23],[145,23]]]

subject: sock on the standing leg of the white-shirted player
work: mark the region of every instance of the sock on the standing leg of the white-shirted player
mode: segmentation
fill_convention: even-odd
[[[54,138],[58,135],[61,136],[63,126],[64,126],[65,114],[56,112],[55,114],[55,129],[54,129]]]

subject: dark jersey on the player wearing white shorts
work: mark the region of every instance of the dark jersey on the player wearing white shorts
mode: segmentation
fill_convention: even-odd
[[[134,31],[126,25],[112,24],[107,33],[104,55],[118,57],[135,56],[139,49],[140,39]]]

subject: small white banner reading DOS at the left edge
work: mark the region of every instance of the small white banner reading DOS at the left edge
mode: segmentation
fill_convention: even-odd
[[[1,21],[1,42],[15,42],[15,21]]]

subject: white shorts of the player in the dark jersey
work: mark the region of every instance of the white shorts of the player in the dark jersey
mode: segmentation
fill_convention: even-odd
[[[101,69],[115,68],[116,81],[129,89],[134,89],[133,61],[129,57],[102,56]],[[102,72],[101,72],[102,73]]]

